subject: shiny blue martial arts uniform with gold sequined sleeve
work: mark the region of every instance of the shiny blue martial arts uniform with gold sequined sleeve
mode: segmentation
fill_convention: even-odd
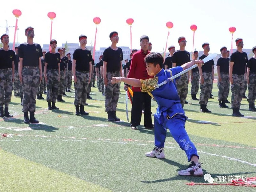
[[[140,80],[142,84],[141,91],[148,92],[158,104],[154,115],[155,146],[158,148],[164,147],[166,129],[169,129],[180,148],[185,151],[188,161],[191,161],[192,156],[196,155],[198,158],[199,156],[196,147],[190,141],[185,130],[186,116],[180,103],[175,79],[159,88],[155,88],[157,84],[181,71],[183,71],[183,68],[180,66],[167,70],[161,69],[154,78]]]

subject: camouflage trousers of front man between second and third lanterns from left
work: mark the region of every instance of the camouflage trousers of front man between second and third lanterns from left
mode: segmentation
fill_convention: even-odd
[[[85,105],[87,100],[87,89],[89,84],[89,71],[76,71],[77,82],[74,83],[75,100],[74,105]]]

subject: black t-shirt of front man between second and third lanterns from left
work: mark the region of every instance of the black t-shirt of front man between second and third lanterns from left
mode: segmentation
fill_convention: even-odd
[[[76,60],[76,70],[89,71],[90,62],[92,62],[92,55],[88,49],[78,48],[73,53],[73,59]]]

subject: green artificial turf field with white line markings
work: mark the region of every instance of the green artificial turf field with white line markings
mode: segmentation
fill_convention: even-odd
[[[139,129],[131,130],[126,119],[123,90],[117,110],[121,122],[107,121],[104,97],[97,88],[92,88],[93,99],[87,100],[89,105],[85,106],[89,116],[76,116],[72,91],[63,97],[65,103],[56,103],[60,110],[47,110],[46,100],[37,100],[35,116],[40,124],[29,125],[23,123],[20,98],[12,96],[9,110],[15,118],[0,119],[0,132],[9,135],[0,140],[1,175],[5,174],[0,180],[1,188],[8,186],[9,191],[255,190],[237,186],[186,185],[207,181],[203,177],[177,174],[189,163],[169,132],[165,159],[144,155],[154,147],[154,131],[144,129],[143,116]],[[198,150],[204,174],[211,174],[215,183],[217,176],[255,177],[256,113],[248,111],[248,103],[243,99],[240,111],[245,118],[232,117],[232,109],[218,107],[216,84],[213,95],[214,99],[208,103],[211,114],[200,113],[198,101],[192,101],[189,94],[189,104],[184,106],[188,116],[186,130]],[[152,101],[153,113],[156,107],[156,102]],[[128,109],[131,110],[131,104]],[[4,171],[7,167],[10,167],[8,174]]]

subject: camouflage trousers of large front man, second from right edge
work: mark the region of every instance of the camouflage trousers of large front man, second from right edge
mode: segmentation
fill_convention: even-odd
[[[240,108],[244,93],[244,75],[232,74],[233,84],[231,85],[231,106],[232,109]]]

